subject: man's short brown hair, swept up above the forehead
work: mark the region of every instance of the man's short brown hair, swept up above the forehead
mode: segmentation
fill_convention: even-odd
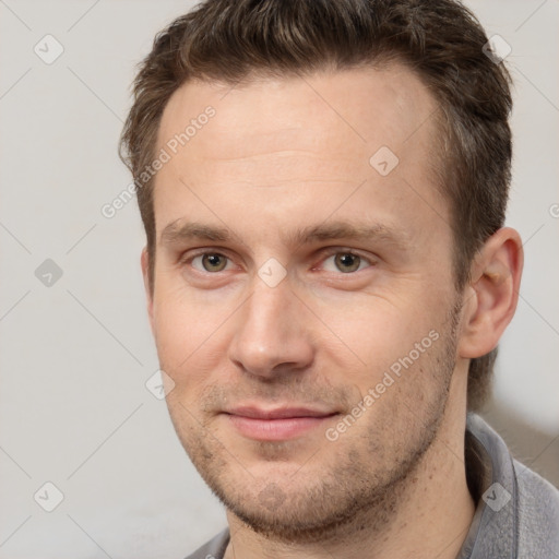
[[[487,55],[487,41],[472,12],[453,0],[205,0],[175,20],[141,63],[120,144],[138,187],[152,285],[153,179],[140,176],[155,156],[164,108],[185,82],[236,84],[257,74],[395,61],[419,76],[441,109],[438,187],[450,203],[462,289],[476,252],[503,226],[511,176],[511,80]],[[496,349],[471,361],[468,409],[484,404],[495,357]]]

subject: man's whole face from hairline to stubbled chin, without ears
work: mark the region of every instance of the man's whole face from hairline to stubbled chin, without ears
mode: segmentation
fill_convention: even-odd
[[[154,194],[167,403],[257,531],[318,534],[381,501],[443,418],[457,296],[436,110],[399,67],[188,83],[166,107],[157,152],[198,119]]]

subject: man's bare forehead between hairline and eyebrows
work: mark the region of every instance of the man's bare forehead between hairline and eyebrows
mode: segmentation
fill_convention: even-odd
[[[209,108],[213,116],[201,118]],[[400,213],[420,227],[421,211],[432,219],[440,205],[431,173],[437,110],[421,81],[395,64],[236,86],[188,82],[162,118],[157,151],[171,145],[176,153],[155,180],[157,230],[190,218],[194,205],[207,205],[203,200],[219,212],[251,205],[275,219],[329,197],[343,200],[364,181],[370,188],[354,197],[355,207],[374,207],[392,222]],[[374,167],[383,159],[397,164],[386,176]],[[407,207],[406,215],[406,202],[418,200],[426,206]],[[310,215],[305,212],[299,221]]]

